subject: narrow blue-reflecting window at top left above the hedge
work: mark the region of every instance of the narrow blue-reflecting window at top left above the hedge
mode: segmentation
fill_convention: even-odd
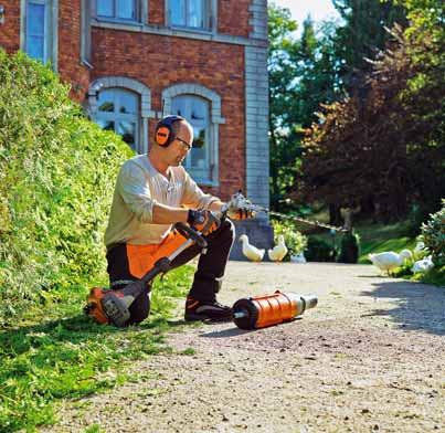
[[[56,0],[25,0],[22,15],[22,50],[43,63],[56,65]]]

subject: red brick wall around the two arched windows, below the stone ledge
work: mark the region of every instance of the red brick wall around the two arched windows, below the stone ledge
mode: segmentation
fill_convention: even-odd
[[[151,108],[161,109],[161,92],[197,83],[221,96],[220,184],[224,198],[244,189],[244,47],[216,42],[94,29],[92,80],[108,75],[138,80],[151,91]],[[150,128],[150,137],[152,125]]]

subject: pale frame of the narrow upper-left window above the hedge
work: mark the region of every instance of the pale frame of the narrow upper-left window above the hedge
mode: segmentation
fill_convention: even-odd
[[[42,62],[44,64],[51,62],[53,70],[57,71],[59,0],[21,0],[20,49],[23,52],[28,49],[29,3],[43,4],[45,8]]]

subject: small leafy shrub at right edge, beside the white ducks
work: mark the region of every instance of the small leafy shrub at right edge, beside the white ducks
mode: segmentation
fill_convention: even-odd
[[[445,199],[442,199],[442,209],[422,224],[420,239],[433,255],[434,264],[445,265]]]

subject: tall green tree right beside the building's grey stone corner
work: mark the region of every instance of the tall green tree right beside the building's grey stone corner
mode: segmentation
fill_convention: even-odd
[[[299,171],[301,130],[316,119],[318,104],[330,101],[335,88],[332,40],[317,36],[310,17],[299,39],[296,30],[287,9],[269,7],[271,201],[280,210]]]

